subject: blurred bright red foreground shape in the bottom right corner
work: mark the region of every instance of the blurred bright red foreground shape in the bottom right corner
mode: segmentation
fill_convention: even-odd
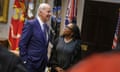
[[[66,72],[120,72],[120,52],[110,51],[93,54]]]

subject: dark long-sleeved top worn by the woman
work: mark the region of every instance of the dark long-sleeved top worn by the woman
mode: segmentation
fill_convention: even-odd
[[[81,59],[80,45],[81,40],[72,40],[65,43],[63,36],[56,39],[49,60],[49,66],[52,67],[51,72],[56,72],[55,67],[67,70],[76,64]]]

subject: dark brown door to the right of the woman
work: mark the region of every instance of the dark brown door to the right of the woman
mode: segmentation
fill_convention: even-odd
[[[88,45],[85,55],[112,50],[118,19],[118,3],[85,1],[81,38]]]

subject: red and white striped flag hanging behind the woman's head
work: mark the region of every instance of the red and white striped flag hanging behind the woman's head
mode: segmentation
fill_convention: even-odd
[[[76,20],[77,15],[77,0],[68,0],[65,25]]]

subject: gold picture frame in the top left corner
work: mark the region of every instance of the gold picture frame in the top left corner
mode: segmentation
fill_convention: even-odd
[[[0,22],[6,23],[8,17],[9,0],[0,0]]]

